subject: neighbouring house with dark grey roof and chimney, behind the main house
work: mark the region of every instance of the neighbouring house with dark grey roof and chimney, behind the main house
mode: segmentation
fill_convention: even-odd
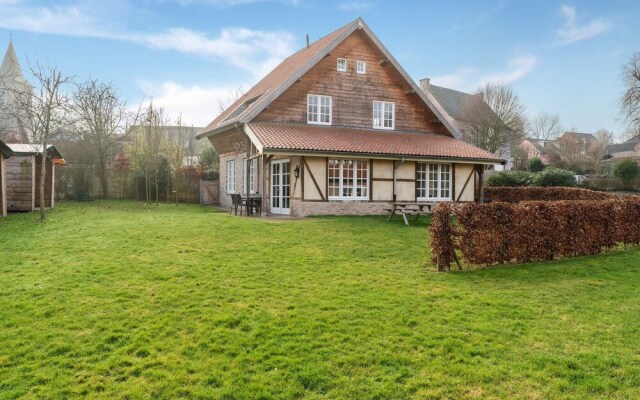
[[[491,109],[489,104],[484,101],[484,95],[482,93],[469,94],[442,86],[436,86],[431,84],[429,78],[420,80],[420,89],[425,93],[431,94],[435,101],[440,104],[445,111],[444,117],[455,129],[453,133],[458,139],[471,142],[473,131],[475,130],[474,125],[476,125],[480,119],[483,121],[491,121],[492,125],[506,126],[500,117]],[[512,168],[511,144],[502,146],[496,151],[495,155],[507,161],[507,164],[504,166],[497,165],[496,170],[510,170]]]

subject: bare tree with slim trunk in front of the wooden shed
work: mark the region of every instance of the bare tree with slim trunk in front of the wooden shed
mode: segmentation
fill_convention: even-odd
[[[15,117],[26,128],[31,142],[38,143],[40,163],[40,221],[47,219],[45,211],[45,182],[47,148],[50,140],[68,126],[69,98],[63,91],[72,82],[57,67],[41,67],[29,64],[29,71],[38,87],[14,94]]]

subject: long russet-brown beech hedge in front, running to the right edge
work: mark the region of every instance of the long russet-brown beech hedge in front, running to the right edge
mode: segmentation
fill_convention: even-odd
[[[455,220],[455,222],[454,222]],[[433,212],[432,262],[488,266],[598,254],[640,243],[640,196],[521,203],[441,203]]]

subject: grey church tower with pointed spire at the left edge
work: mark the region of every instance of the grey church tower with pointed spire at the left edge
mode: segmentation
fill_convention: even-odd
[[[16,96],[32,90],[24,79],[20,62],[9,40],[9,46],[0,65],[0,139],[5,142],[27,141],[28,135],[17,116]]]

